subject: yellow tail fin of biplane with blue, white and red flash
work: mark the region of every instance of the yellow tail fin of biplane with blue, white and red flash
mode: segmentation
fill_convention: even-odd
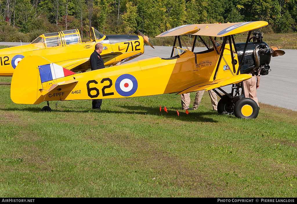
[[[23,58],[12,75],[10,98],[14,103],[38,104],[45,101],[45,94],[58,84],[54,79],[75,74],[59,65],[51,63],[43,57],[31,55]],[[42,87],[51,82],[48,90]],[[75,81],[73,81],[75,82]],[[64,84],[73,83],[65,82]]]

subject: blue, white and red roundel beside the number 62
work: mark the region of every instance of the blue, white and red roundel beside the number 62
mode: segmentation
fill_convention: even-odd
[[[131,96],[136,92],[138,83],[131,74],[123,74],[116,79],[115,87],[119,95]]]

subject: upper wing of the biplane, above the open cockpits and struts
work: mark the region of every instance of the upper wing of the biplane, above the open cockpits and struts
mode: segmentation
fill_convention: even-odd
[[[185,34],[204,36],[228,36],[237,33],[251,31],[268,25],[266,21],[252,21],[241,23],[212,23],[212,24],[190,24],[172,28],[156,37],[178,36]]]

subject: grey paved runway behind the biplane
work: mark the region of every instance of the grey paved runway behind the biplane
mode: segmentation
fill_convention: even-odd
[[[144,54],[129,62],[157,56],[170,57],[172,47],[154,47],[155,49],[145,46]],[[202,50],[205,48],[197,48],[195,52]],[[268,75],[261,76],[257,97],[260,103],[297,111],[297,50],[284,51],[285,55],[271,58],[271,71]],[[225,87],[224,90],[231,89]]]

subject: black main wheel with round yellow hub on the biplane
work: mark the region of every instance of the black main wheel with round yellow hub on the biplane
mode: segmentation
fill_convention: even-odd
[[[238,118],[256,118],[259,114],[259,107],[254,100],[250,98],[241,98],[235,104],[234,113]]]

